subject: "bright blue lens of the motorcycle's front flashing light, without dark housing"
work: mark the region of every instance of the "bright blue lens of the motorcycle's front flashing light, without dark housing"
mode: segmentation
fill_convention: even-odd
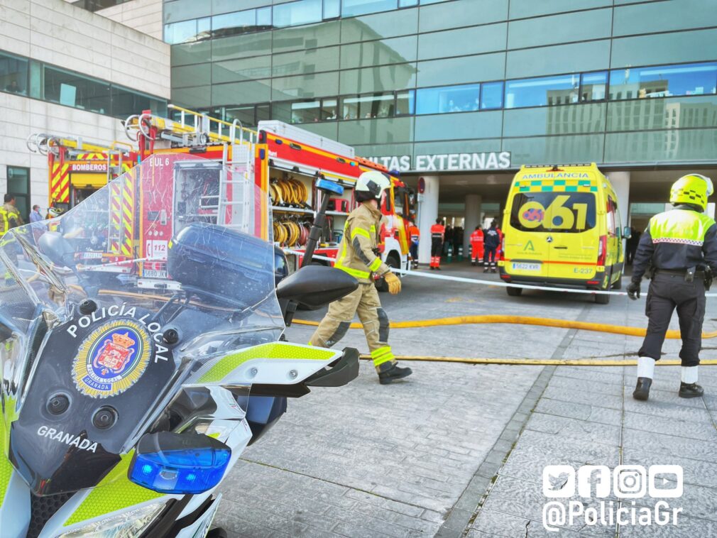
[[[136,454],[129,478],[164,494],[200,494],[222,480],[231,456],[231,450],[217,448]]]

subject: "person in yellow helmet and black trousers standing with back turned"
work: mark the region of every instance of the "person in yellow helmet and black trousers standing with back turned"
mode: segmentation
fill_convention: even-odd
[[[704,214],[712,194],[712,181],[700,174],[680,177],[670,190],[675,208],[650,219],[640,237],[632,265],[627,295],[640,297],[640,280],[649,269],[652,281],[647,291],[645,314],[647,334],[638,351],[635,400],[647,400],[655,372],[655,361],[665,341],[672,313],[677,308],[682,338],[682,375],[678,395],[700,397],[697,384],[698,357],[705,317],[705,291],[717,271],[717,225]]]

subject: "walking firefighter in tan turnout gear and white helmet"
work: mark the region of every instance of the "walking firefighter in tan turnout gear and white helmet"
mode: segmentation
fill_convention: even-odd
[[[326,316],[309,341],[313,346],[333,346],[343,338],[358,313],[381,384],[412,374],[410,368],[398,366],[388,344],[389,316],[381,308],[373,278],[374,274],[383,276],[392,295],[401,291],[401,280],[376,255],[384,218],[379,203],[390,187],[391,181],[379,171],[364,172],[356,181],[356,201],[361,204],[348,215],[334,267],[359,280],[359,288],[328,306]]]

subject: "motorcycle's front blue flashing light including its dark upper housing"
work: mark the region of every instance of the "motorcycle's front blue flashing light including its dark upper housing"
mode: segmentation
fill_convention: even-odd
[[[200,494],[224,477],[232,449],[202,434],[143,435],[129,468],[130,481],[164,494]]]

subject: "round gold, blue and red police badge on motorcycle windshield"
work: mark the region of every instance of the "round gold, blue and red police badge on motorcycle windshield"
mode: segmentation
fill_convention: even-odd
[[[149,334],[137,321],[102,324],[80,344],[72,364],[75,387],[93,398],[116,396],[142,376],[151,349]]]

